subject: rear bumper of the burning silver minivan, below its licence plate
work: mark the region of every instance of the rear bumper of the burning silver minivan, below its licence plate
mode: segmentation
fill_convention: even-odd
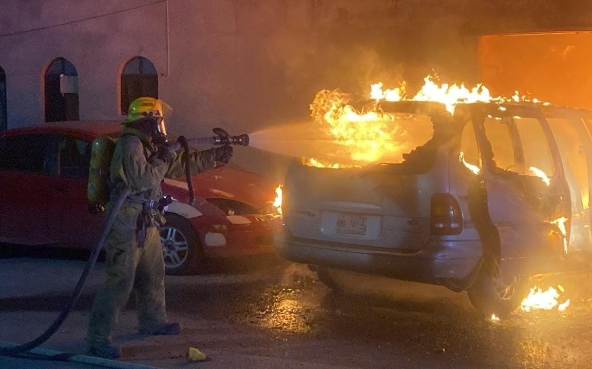
[[[379,274],[401,280],[468,288],[481,264],[481,241],[431,239],[425,250],[408,252],[363,248],[279,234],[278,252],[297,263]]]

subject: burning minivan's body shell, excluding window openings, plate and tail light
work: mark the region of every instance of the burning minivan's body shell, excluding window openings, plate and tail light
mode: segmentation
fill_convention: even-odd
[[[583,238],[587,240],[581,247],[583,250],[578,250],[583,252],[572,252],[570,193],[581,189],[565,179],[562,156],[547,119],[558,117],[575,127],[583,146],[587,176],[592,179],[591,112],[533,103],[492,102],[461,103],[451,115],[443,104],[434,102],[380,105],[385,112],[429,115],[434,128],[432,139],[406,154],[400,164],[333,170],[294,163],[284,188],[285,229],[276,238],[276,247],[285,258],[312,264],[329,285],[334,285],[334,280],[327,270],[334,268],[440,284],[456,292],[467,290],[478,310],[497,316],[507,316],[519,306],[527,292],[529,277],[589,269],[590,212],[586,210],[586,216],[578,218],[580,232],[585,232]],[[533,145],[546,146],[548,170],[552,171],[548,183],[539,176],[497,166],[485,125],[500,122],[504,126],[511,141],[513,166],[522,167],[524,172],[528,168],[525,141],[529,139],[516,124],[525,121],[540,128],[540,137],[544,137],[543,142],[531,140],[529,145],[530,151]],[[478,163],[472,164],[477,164],[477,174],[459,158],[461,136],[466,128],[474,132]],[[413,176],[406,177],[409,170]],[[329,190],[324,191],[327,200],[345,199],[341,203],[347,203],[352,200],[348,193],[361,189],[365,192],[360,193],[367,195],[353,200],[352,204],[357,205],[350,209],[345,205],[332,209],[340,202],[326,202],[324,198],[314,199],[320,204],[316,208],[308,206],[313,201],[308,205],[306,201],[291,203],[302,197],[297,187],[308,185],[310,191],[310,188],[323,189],[330,182],[339,185],[327,187]],[[589,183],[585,189],[588,194]],[[422,191],[426,193],[423,197]],[[433,221],[435,197],[448,200],[451,197],[452,206],[458,206],[456,211],[461,213],[460,224],[448,234],[438,234],[437,229],[428,225]],[[394,208],[390,202],[407,212],[389,215],[388,208]],[[381,230],[395,222],[389,217],[400,218],[395,226],[391,225],[391,233],[395,237],[397,232],[405,235],[395,247],[384,244],[387,238],[382,238],[383,244],[369,239],[340,242],[339,237],[327,237],[315,229],[323,228],[324,213],[331,211],[374,213],[382,217]],[[316,223],[311,221],[313,218],[318,219]],[[583,218],[587,220],[581,221]],[[308,223],[298,224],[298,219],[308,219]],[[561,229],[562,225],[565,230]],[[417,238],[424,241],[414,247]]]

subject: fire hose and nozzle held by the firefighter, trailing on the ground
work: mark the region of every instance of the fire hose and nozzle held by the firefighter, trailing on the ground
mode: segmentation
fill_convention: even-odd
[[[191,181],[191,170],[189,167],[189,146],[190,145],[242,145],[247,146],[249,145],[249,135],[242,134],[237,136],[231,136],[227,131],[223,130],[222,128],[214,128],[214,137],[198,137],[198,138],[190,138],[186,139],[185,137],[181,136],[178,143],[171,144],[167,148],[170,152],[177,151],[181,147],[184,148],[185,151],[185,176],[187,180],[188,190],[189,190],[189,199],[190,204],[193,202],[194,193],[193,193],[193,183]],[[72,294],[70,295],[70,299],[67,301],[66,305],[57,316],[56,320],[46,329],[41,335],[37,338],[22,344],[22,345],[9,345],[0,347],[0,355],[2,356],[13,356],[22,354],[24,352],[30,351],[38,347],[39,345],[43,344],[47,341],[54,333],[56,333],[57,329],[60,328],[62,323],[66,320],[67,316],[70,313],[70,310],[76,305],[78,302],[79,297],[82,294],[82,289],[88,280],[88,276],[91,273],[92,269],[95,266],[96,259],[101,253],[102,248],[105,245],[105,241],[107,241],[107,236],[111,231],[111,227],[115,222],[115,217],[119,212],[121,206],[125,200],[130,196],[131,190],[124,189],[121,191],[120,195],[117,197],[113,206],[111,206],[110,212],[108,213],[107,217],[105,218],[101,236],[99,237],[98,241],[95,243],[94,247],[92,248],[91,255],[86,261],[84,270],[76,283],[76,287],[74,288]],[[50,356],[49,358],[54,358]],[[67,355],[57,355],[56,360],[67,360]]]

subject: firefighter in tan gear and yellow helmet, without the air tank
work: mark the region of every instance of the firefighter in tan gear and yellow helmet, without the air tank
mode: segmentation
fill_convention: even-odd
[[[110,202],[118,193],[131,195],[118,211],[105,244],[106,278],[96,294],[86,342],[89,352],[104,358],[118,358],[121,349],[111,344],[111,331],[131,290],[136,290],[140,334],[176,335],[179,322],[169,322],[165,312],[165,264],[159,226],[164,224],[160,182],[184,174],[185,154],[166,150],[163,108],[153,98],[139,98],[130,104],[123,131],[115,145],[110,167]],[[189,154],[191,173],[211,169],[217,161],[228,163],[233,150],[222,146]]]

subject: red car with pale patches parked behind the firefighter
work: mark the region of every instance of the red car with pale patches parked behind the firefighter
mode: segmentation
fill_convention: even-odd
[[[118,122],[52,122],[0,132],[0,242],[91,248],[103,215],[86,199],[91,143],[116,136]],[[266,253],[281,227],[274,186],[229,166],[185,179],[166,179],[173,203],[160,233],[168,274],[197,273],[207,257]]]

